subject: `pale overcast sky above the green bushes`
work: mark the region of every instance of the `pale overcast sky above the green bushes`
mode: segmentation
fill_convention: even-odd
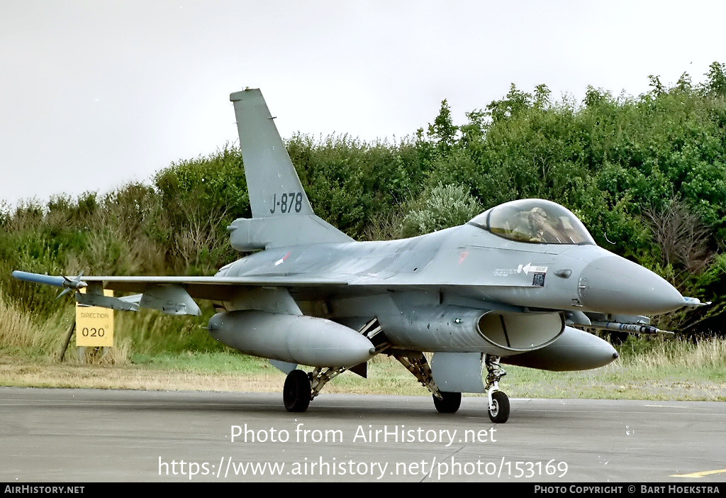
[[[0,201],[107,192],[237,140],[258,87],[283,137],[414,134],[515,83],[581,100],[726,62],[723,1],[0,0]]]

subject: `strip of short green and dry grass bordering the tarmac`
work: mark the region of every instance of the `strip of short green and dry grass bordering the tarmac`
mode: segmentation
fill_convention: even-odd
[[[626,361],[583,372],[545,372],[513,366],[506,369],[508,375],[502,380],[502,388],[515,398],[726,401],[722,372],[710,375],[698,368],[640,366],[629,370]],[[368,379],[364,379],[346,372],[326,385],[324,392],[429,395],[407,370],[387,356],[373,359],[368,373]],[[284,381],[285,375],[266,360],[228,351],[139,354],[120,364],[103,360],[83,364],[73,354],[63,363],[51,357],[0,356],[0,385],[276,392]]]

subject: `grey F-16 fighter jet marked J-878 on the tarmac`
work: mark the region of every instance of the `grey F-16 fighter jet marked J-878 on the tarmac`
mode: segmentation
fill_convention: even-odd
[[[228,230],[232,247],[256,252],[214,277],[13,276],[128,311],[200,314],[194,299],[211,300],[219,311],[211,335],[287,373],[290,412],[306,410],[346,370],[365,377],[366,362],[387,354],[431,391],[439,412],[456,412],[461,393],[486,393],[494,423],[510,412],[500,362],[601,367],[615,349],[571,325],[654,333],[645,315],[701,305],[598,247],[573,213],[547,200],[505,203],[420,237],[356,242],[315,216],[261,92],[230,100],[253,217]],[[112,298],[103,289],[136,294]]]

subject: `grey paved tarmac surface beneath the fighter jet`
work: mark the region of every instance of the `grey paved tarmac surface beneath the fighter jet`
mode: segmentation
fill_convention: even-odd
[[[726,403],[0,388],[0,481],[726,479]],[[677,475],[690,475],[679,477]],[[701,477],[697,477],[701,475]]]

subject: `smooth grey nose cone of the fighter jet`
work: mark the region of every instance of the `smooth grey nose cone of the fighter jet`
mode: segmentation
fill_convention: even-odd
[[[578,293],[585,308],[601,313],[649,315],[685,306],[683,296],[664,279],[614,255],[584,267]]]

